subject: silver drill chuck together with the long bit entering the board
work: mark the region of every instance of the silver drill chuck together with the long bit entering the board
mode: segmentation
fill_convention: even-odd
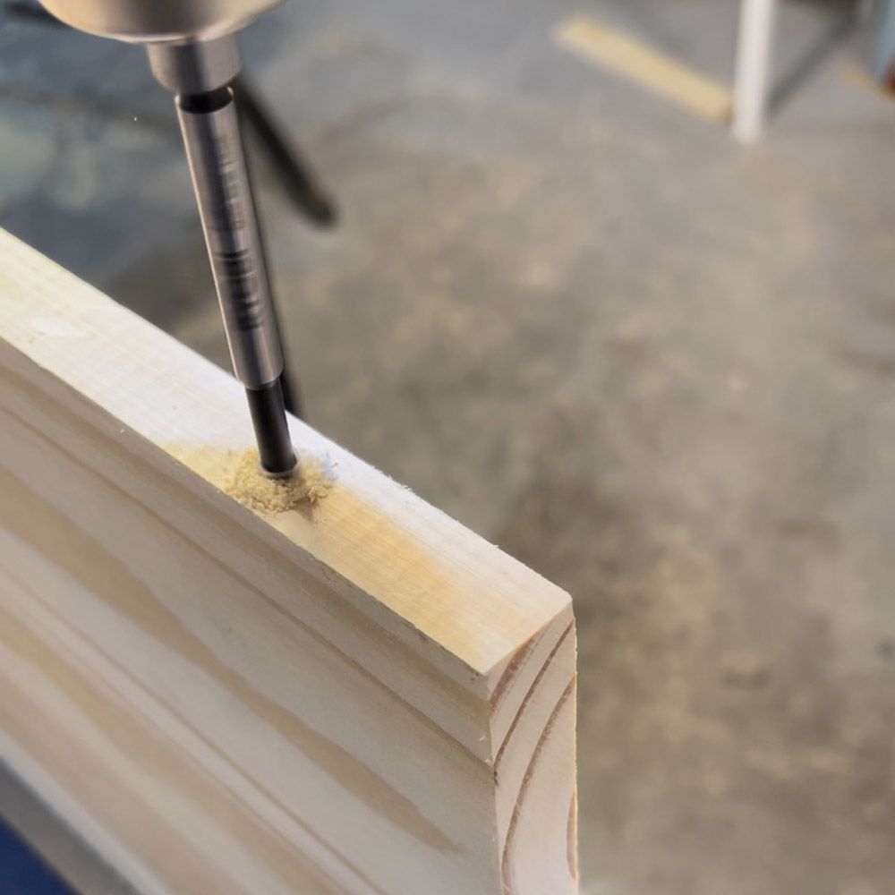
[[[41,0],[75,28],[147,45],[177,114],[209,249],[236,376],[249,399],[260,464],[295,466],[280,375],[283,357],[270,300],[243,143],[227,86],[240,70],[234,32],[282,0]]]

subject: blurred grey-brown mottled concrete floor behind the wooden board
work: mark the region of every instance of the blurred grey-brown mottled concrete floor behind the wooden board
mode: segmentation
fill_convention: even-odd
[[[895,887],[895,107],[837,47],[744,150],[551,39],[730,80],[733,0],[303,0],[246,35],[310,421],[573,593],[588,895]],[[837,14],[790,3],[780,70]],[[51,60],[53,60],[51,62]],[[226,362],[137,51],[0,30],[0,226]]]

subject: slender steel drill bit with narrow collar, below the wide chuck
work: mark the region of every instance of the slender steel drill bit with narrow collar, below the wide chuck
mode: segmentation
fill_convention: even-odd
[[[239,72],[232,36],[149,46],[156,77],[175,90],[234,373],[246,390],[260,465],[294,470],[280,377],[283,354],[261,249],[230,82]]]

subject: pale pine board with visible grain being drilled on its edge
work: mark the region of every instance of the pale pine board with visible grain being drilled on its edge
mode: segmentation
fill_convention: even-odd
[[[0,232],[0,757],[145,895],[568,895],[567,594]]]

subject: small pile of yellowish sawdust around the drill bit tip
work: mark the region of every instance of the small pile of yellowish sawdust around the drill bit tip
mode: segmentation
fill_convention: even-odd
[[[258,463],[258,451],[247,450],[237,461],[224,490],[243,507],[285,513],[300,506],[315,506],[332,487],[333,476],[319,456],[299,454],[298,466],[287,479],[271,479]]]

